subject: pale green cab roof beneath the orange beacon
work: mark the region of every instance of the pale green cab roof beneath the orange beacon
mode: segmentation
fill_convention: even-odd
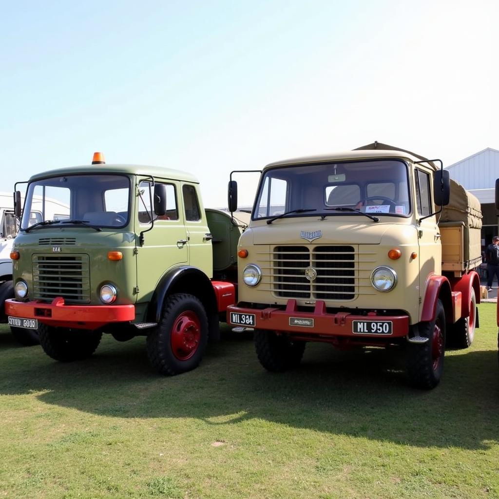
[[[190,173],[172,168],[147,165],[81,165],[55,170],[47,170],[42,173],[32,175],[29,181],[45,179],[47,177],[56,177],[60,175],[75,175],[78,173],[122,173],[126,175],[153,175],[155,178],[180,180],[199,184],[198,179]]]

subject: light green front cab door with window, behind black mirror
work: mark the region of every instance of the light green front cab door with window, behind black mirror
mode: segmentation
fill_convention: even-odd
[[[171,268],[188,262],[188,236],[179,203],[180,183],[155,180],[166,186],[167,213],[152,214],[153,187],[151,178],[138,181],[135,199],[135,234],[137,240],[137,302],[148,302],[161,277]],[[149,230],[151,229],[151,230]],[[139,242],[143,233],[144,243]]]

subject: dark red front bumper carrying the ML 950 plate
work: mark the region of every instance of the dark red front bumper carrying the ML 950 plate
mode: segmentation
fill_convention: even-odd
[[[238,322],[238,317],[233,316],[233,313],[254,315],[255,324],[243,324],[241,320]],[[246,319],[244,321],[248,322]],[[357,321],[355,329],[363,329],[365,332],[354,332],[354,321]],[[298,311],[296,300],[288,300],[285,310],[272,307],[257,310],[232,305],[227,307],[227,322],[235,326],[247,325],[255,329],[270,329],[295,336],[316,336],[317,341],[320,341],[320,337],[385,338],[390,341],[390,338],[404,337],[409,332],[408,315],[386,316],[376,315],[375,312],[368,315],[327,313],[323,301],[317,301],[313,312]],[[386,332],[388,323],[391,323],[390,332]]]

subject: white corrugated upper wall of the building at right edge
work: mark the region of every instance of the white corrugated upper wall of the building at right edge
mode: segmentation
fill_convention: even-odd
[[[465,189],[494,189],[499,178],[499,151],[487,148],[447,168]]]

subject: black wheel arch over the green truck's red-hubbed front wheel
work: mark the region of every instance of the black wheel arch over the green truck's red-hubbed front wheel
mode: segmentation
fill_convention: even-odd
[[[168,295],[188,293],[196,296],[205,307],[208,316],[209,335],[218,333],[218,304],[212,281],[199,268],[184,265],[171,269],[158,282],[148,306],[147,318],[159,323]],[[214,319],[217,318],[217,320]]]

